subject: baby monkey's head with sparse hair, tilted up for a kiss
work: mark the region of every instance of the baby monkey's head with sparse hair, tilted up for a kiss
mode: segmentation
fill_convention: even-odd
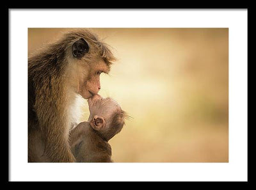
[[[106,141],[122,130],[127,115],[115,100],[93,95],[88,99],[88,105],[90,110],[88,122]]]

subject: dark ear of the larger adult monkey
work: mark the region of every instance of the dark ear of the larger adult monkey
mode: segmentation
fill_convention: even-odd
[[[73,56],[77,59],[82,58],[88,51],[89,45],[84,38],[80,38],[72,45]]]

